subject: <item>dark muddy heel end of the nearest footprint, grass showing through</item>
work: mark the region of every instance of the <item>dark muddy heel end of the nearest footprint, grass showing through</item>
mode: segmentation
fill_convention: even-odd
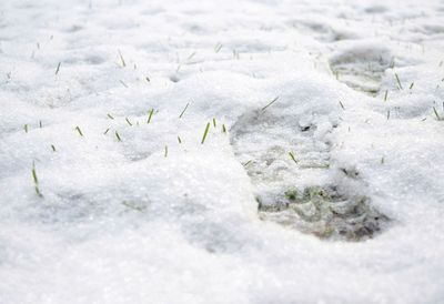
[[[369,197],[349,197],[334,186],[285,191],[272,205],[262,204],[260,197],[258,202],[260,219],[321,239],[361,241],[373,237],[389,222]]]

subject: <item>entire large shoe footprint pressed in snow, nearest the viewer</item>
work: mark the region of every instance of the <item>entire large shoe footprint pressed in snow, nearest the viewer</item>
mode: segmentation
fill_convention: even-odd
[[[362,193],[357,172],[331,168],[331,144],[316,133],[320,120],[273,113],[246,113],[230,130],[260,219],[322,239],[360,241],[377,234],[389,217]]]

